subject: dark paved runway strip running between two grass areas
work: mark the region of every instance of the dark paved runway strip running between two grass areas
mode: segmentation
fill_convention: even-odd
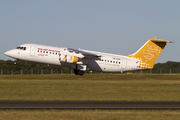
[[[0,110],[180,110],[180,102],[0,101]]]

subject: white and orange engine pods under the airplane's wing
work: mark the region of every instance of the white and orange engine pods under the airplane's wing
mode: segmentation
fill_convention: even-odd
[[[60,55],[59,55],[59,60],[60,60],[61,62],[76,63],[76,62],[78,62],[78,57],[76,57],[76,56],[71,56],[71,55],[63,55],[63,54],[60,54]]]

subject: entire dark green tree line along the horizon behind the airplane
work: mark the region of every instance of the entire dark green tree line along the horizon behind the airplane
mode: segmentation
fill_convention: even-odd
[[[12,60],[0,60],[1,74],[73,74],[71,68],[47,65],[26,61],[17,61],[16,64]],[[133,73],[180,73],[180,62],[168,61],[166,63],[157,63],[151,70],[132,71]],[[87,71],[86,73],[90,73]],[[95,72],[93,73],[100,73]],[[125,72],[126,73],[126,72]]]

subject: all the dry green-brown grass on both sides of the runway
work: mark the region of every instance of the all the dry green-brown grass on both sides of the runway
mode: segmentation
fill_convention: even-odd
[[[1,101],[180,101],[180,75],[0,75]],[[0,120],[179,120],[180,111],[0,110]]]

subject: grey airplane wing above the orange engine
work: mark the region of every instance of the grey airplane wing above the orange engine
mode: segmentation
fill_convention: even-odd
[[[99,58],[101,57],[100,55],[94,54],[94,53],[90,53],[90,52],[86,52],[83,50],[77,50],[77,49],[73,49],[73,48],[68,48],[68,51],[73,51],[75,53],[81,53],[85,58]]]

